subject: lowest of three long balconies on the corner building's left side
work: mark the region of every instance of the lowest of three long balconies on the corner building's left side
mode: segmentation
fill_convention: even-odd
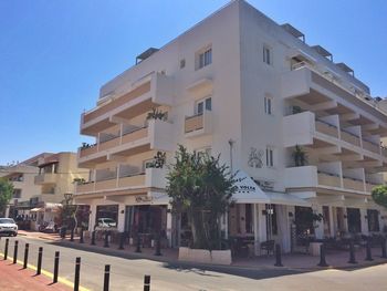
[[[80,184],[76,194],[106,193],[113,190],[140,190],[164,189],[166,187],[166,174],[164,168],[147,168],[145,173],[109,177],[98,181]]]

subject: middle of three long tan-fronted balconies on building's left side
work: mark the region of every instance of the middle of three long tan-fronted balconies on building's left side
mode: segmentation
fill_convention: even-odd
[[[170,152],[174,148],[172,124],[164,121],[149,121],[148,127],[140,127],[128,133],[100,142],[96,146],[79,149],[79,166],[93,166],[106,162],[108,156],[130,156],[150,149]]]

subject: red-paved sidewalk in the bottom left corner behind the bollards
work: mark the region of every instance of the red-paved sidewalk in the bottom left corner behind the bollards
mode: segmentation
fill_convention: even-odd
[[[20,264],[0,260],[0,290],[1,291],[69,291],[67,287],[60,283],[51,284],[52,281],[45,276],[34,277],[34,271],[23,270]]]

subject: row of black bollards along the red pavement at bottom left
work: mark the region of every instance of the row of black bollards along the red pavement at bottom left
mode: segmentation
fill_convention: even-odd
[[[6,240],[4,245],[4,257],[3,259],[8,259],[8,251],[9,251],[9,239]],[[14,241],[13,246],[13,258],[12,258],[12,264],[18,262],[18,251],[19,251],[19,241]],[[25,243],[24,248],[24,260],[23,260],[23,269],[28,268],[29,262],[29,253],[30,253],[30,243]],[[42,272],[42,258],[43,258],[43,248],[39,247],[38,252],[38,264],[36,264],[36,273],[35,276],[40,276]],[[54,273],[53,273],[53,280],[52,283],[57,283],[59,279],[59,267],[60,267],[60,252],[55,251],[54,256]],[[104,284],[103,290],[108,291],[109,290],[109,279],[111,279],[111,266],[105,264],[105,272],[104,272]],[[74,274],[74,291],[80,290],[80,280],[81,280],[81,258],[75,258],[75,274]],[[144,277],[144,291],[150,291],[150,276],[146,274]]]

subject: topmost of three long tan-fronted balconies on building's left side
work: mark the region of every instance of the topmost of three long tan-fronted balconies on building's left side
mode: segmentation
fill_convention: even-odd
[[[115,117],[133,118],[159,105],[172,105],[174,83],[170,76],[151,73],[133,83],[130,89],[81,116],[81,134],[96,136],[116,124]]]

